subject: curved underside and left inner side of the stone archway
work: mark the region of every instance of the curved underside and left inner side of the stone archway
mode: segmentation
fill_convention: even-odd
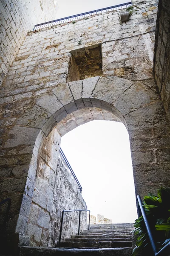
[[[73,108],[74,104],[76,104],[78,108],[77,110]],[[68,114],[65,109],[67,109],[67,111],[69,110],[70,113]],[[53,120],[52,122],[51,119]],[[48,119],[48,121],[42,127],[43,134],[42,131],[40,131],[35,141],[33,156],[28,171],[28,178],[20,209],[20,215],[17,221],[17,233],[23,233],[26,236],[31,236],[31,232],[33,232],[32,229],[34,229],[33,219],[35,218],[35,211],[37,210],[37,207],[41,207],[42,209],[45,209],[46,207],[48,208],[45,209],[47,210],[47,212],[49,212],[49,209],[51,209],[51,206],[47,206],[49,201],[52,202],[53,197],[52,193],[48,193],[50,192],[51,181],[48,180],[48,183],[46,183],[45,181],[45,186],[43,186],[42,178],[37,176],[37,172],[40,171],[39,165],[41,165],[40,162],[42,162],[42,158],[43,160],[45,160],[45,163],[47,163],[48,166],[50,166],[51,169],[54,170],[58,162],[58,153],[61,137],[67,132],[76,128],[77,126],[92,120],[110,120],[122,122],[127,128],[125,119],[123,118],[122,114],[111,104],[99,99],[87,98],[78,99],[75,102],[71,102],[68,105],[65,105],[63,108],[60,108]],[[54,148],[51,147],[52,144],[56,145],[55,150],[57,150],[57,152],[54,150]],[[56,174],[53,173],[53,175]],[[53,182],[54,181],[55,179],[53,179]],[[37,189],[37,186],[39,187],[39,189]],[[40,190],[40,186],[42,190]],[[44,202],[45,196],[46,203]],[[31,228],[29,227],[30,220]],[[38,221],[38,219],[35,219],[35,221]],[[48,239],[46,238],[45,241],[48,242]],[[33,243],[32,245],[47,246],[48,244]],[[51,245],[54,246],[54,244]]]

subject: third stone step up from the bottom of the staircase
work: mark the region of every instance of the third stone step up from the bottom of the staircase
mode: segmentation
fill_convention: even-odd
[[[111,241],[111,242],[121,242],[121,241],[132,241],[132,238],[66,238],[66,242],[103,242],[103,241]]]

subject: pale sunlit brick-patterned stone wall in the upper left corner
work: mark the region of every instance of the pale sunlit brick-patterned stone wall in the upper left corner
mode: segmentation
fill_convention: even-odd
[[[0,0],[0,86],[27,32],[53,20],[56,11],[54,0]]]

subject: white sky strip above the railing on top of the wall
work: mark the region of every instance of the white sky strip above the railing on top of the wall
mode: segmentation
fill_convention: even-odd
[[[130,0],[54,0],[54,2],[57,2],[58,5],[56,19],[59,19],[121,3],[127,3],[130,2]]]

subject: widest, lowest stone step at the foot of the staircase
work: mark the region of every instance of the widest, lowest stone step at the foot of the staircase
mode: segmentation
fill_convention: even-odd
[[[52,248],[20,247],[20,256],[130,256],[132,248]]]

